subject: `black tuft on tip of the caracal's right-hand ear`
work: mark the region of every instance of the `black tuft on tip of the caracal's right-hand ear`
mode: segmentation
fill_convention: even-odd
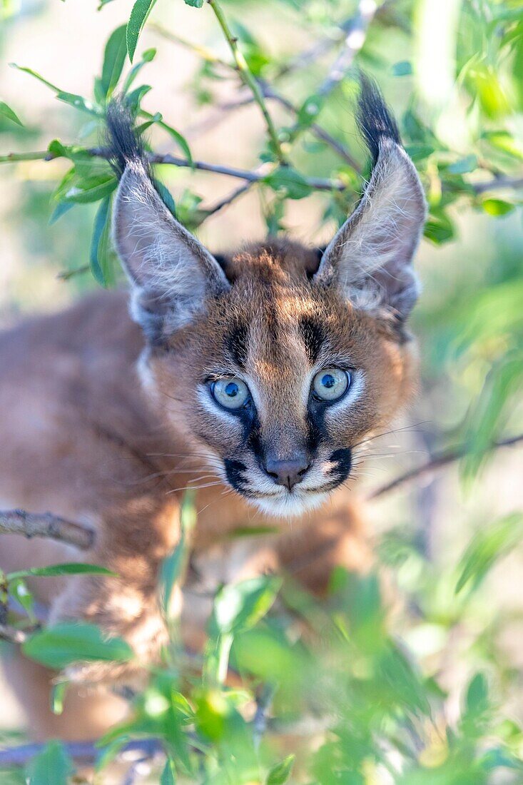
[[[360,74],[357,122],[374,163],[378,160],[380,142],[390,140],[395,144],[401,144],[396,121],[390,114],[379,87],[366,74]]]

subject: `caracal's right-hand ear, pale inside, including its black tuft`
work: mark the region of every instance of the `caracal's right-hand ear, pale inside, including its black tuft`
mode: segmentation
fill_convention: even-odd
[[[426,218],[422,185],[379,89],[361,78],[358,124],[373,155],[356,210],[327,246],[315,279],[376,315],[404,321],[419,294],[412,268]]]

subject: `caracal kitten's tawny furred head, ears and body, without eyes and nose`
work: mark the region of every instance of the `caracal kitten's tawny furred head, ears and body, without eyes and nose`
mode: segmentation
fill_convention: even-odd
[[[199,488],[191,569],[183,599],[179,590],[175,597],[188,647],[203,644],[209,597],[221,582],[287,571],[321,594],[335,564],[364,568],[370,556],[348,487],[351,458],[415,385],[404,323],[417,295],[411,261],[425,203],[369,83],[360,122],[375,168],[321,258],[269,240],[218,263],[159,198],[129,111],[113,106],[108,122],[121,175],[115,245],[143,332],[127,295],[113,292],[0,335],[0,507],[88,524],[95,542],[79,553],[5,536],[0,568],[71,560],[110,568],[118,577],[31,586],[51,622],[97,623],[129,641],[136,662],[73,668],[78,686],[54,717],[53,674],[11,659],[9,680],[37,738],[99,736],[125,704],[90,685],[136,681],[147,673],[141,664],[158,659],[167,639],[159,568],[179,537],[186,487]],[[327,405],[313,380],[333,367],[350,371],[351,384]],[[213,383],[224,376],[248,386],[248,414],[214,400]],[[300,479],[275,482],[267,455],[288,466],[297,453],[306,458]],[[264,526],[277,531],[232,536]]]

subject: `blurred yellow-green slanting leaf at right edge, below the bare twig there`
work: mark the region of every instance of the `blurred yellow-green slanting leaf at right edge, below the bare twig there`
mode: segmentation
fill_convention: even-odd
[[[470,583],[474,589],[483,581],[496,561],[510,553],[523,535],[523,514],[512,513],[491,528],[477,531],[459,562],[458,594]]]

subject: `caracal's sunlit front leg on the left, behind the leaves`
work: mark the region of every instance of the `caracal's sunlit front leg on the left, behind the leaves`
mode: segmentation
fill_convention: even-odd
[[[109,637],[122,637],[133,648],[130,663],[87,663],[73,666],[68,677],[75,681],[143,680],[146,666],[159,661],[168,643],[165,619],[159,604],[159,571],[179,536],[177,510],[170,506],[155,517],[122,516],[104,520],[89,560],[115,576],[76,575],[53,602],[49,623],[84,621],[97,624]],[[180,610],[180,590],[175,587],[170,612]],[[145,667],[144,667],[145,666]]]

